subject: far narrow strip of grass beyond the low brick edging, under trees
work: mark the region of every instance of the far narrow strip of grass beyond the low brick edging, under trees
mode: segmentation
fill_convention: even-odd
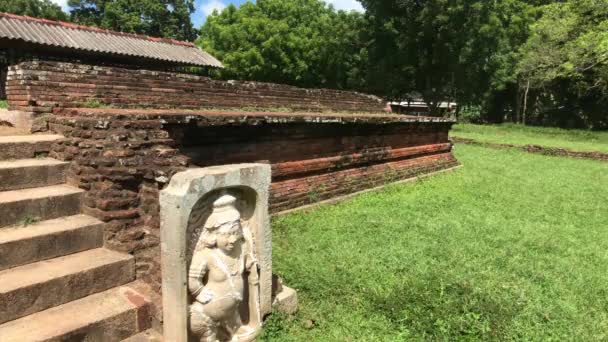
[[[608,152],[608,132],[530,127],[514,124],[458,124],[454,125],[451,135],[489,143],[532,144],[547,147],[562,147],[575,151]]]

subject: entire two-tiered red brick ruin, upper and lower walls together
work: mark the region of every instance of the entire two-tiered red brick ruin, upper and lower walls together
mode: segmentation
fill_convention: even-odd
[[[352,92],[24,62],[10,67],[7,93],[12,109],[65,137],[50,156],[71,162],[83,212],[105,222],[105,246],[134,255],[137,278],[158,293],[158,195],[186,168],[269,163],[278,213],[458,165],[452,121],[370,114],[382,101]],[[92,100],[101,108],[86,108]]]

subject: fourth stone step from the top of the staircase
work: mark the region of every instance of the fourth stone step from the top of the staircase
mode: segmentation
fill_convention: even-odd
[[[103,222],[87,215],[0,229],[0,271],[102,245]]]

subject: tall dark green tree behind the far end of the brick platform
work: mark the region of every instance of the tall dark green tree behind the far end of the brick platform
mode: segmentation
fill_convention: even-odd
[[[543,2],[549,0],[535,0]],[[371,23],[370,87],[489,107],[516,84],[516,51],[533,20],[523,0],[361,0]],[[511,91],[512,92],[512,91]],[[501,98],[504,100],[504,98]]]

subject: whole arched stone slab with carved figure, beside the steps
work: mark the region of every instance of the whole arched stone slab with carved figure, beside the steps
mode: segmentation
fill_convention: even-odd
[[[192,169],[161,191],[165,341],[253,341],[272,306],[267,164]]]

